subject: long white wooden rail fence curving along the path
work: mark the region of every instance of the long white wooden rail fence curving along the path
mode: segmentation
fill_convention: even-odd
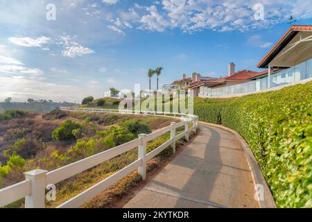
[[[119,112],[119,110],[96,110],[87,108],[62,108],[62,110],[130,114],[130,112]],[[132,114],[134,113],[132,112]],[[0,207],[6,206],[25,197],[26,208],[44,208],[46,198],[45,191],[47,185],[54,185],[58,182],[61,182],[62,180],[71,178],[78,173],[86,171],[87,169],[91,169],[92,167],[96,167],[102,162],[111,160],[112,158],[121,155],[122,153],[138,147],[138,160],[132,162],[132,164],[121,169],[120,171],[117,171],[116,173],[112,174],[112,176],[105,178],[101,182],[98,182],[98,184],[90,187],[89,189],[83,191],[81,194],[78,194],[77,196],[71,198],[70,200],[67,200],[65,203],[62,203],[62,205],[58,206],[58,208],[80,207],[81,205],[83,205],[83,203],[86,203],[88,200],[100,194],[101,191],[114,185],[125,176],[128,176],[128,174],[132,173],[132,171],[135,171],[135,169],[138,169],[139,175],[141,175],[142,179],[145,180],[146,162],[148,162],[148,160],[151,160],[153,157],[164,151],[164,149],[169,146],[173,148],[173,153],[175,153],[175,142],[182,137],[185,137],[187,141],[189,141],[189,133],[191,131],[196,132],[198,128],[198,117],[193,115],[164,112],[137,112],[135,114],[167,116],[173,118],[180,117],[184,121],[179,123],[172,122],[171,126],[167,126],[166,128],[157,130],[156,132],[149,135],[141,134],[139,135],[138,139],[132,140],[131,142],[122,144],[121,146],[116,146],[114,148],[111,148],[110,150],[98,153],[91,157],[87,157],[83,160],[79,160],[78,162],[73,162],[72,164],[61,167],[59,169],[55,169],[53,171],[35,169],[33,171],[26,172],[24,173],[25,180],[23,182],[19,182],[15,185],[11,185],[10,187],[0,189]],[[190,122],[193,122],[193,126],[191,128],[189,128]],[[184,126],[185,128],[184,132],[180,135],[175,135],[175,130],[182,126]],[[147,142],[150,142],[151,140],[156,139],[157,137],[160,137],[168,132],[171,132],[171,138],[167,142],[165,142],[155,150],[151,151],[150,153],[146,153]]]

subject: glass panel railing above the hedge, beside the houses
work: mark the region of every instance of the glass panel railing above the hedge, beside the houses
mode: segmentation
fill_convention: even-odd
[[[277,74],[251,80],[248,83],[229,85],[218,88],[200,87],[200,94],[208,97],[229,96],[235,94],[248,94],[261,92],[265,89],[279,87],[291,83],[296,83],[300,80],[312,78],[312,59],[302,62],[295,67],[284,69]]]

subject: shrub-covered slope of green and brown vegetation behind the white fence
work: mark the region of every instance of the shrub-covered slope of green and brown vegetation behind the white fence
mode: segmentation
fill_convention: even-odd
[[[152,130],[168,126],[171,121],[172,119],[162,117],[88,114],[62,110],[53,110],[44,116],[25,114],[24,117],[2,121],[0,188],[24,180],[25,171],[38,168],[49,171],[57,169],[136,139],[140,133],[148,134]],[[148,144],[148,151],[157,148],[157,144],[164,142],[168,136],[159,137]],[[164,153],[168,151],[164,151],[159,157]],[[83,191],[101,178],[110,176],[133,162],[135,158],[136,149],[60,182],[57,185],[60,191],[58,201],[75,196],[78,191]],[[132,185],[134,183],[135,180],[132,181]],[[121,192],[126,190],[125,187]],[[110,195],[116,196],[117,193],[120,191],[110,192]],[[23,200],[19,200],[8,207],[23,207],[23,203]],[[55,207],[58,203],[47,203],[47,207]]]

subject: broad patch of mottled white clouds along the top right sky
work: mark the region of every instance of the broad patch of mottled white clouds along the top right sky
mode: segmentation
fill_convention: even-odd
[[[256,3],[255,0],[162,0],[152,1],[149,6],[134,3],[130,12],[121,12],[119,15],[132,26],[147,31],[163,32],[178,28],[184,33],[205,29],[244,32],[285,23],[289,15],[294,15],[296,19],[312,17],[312,9],[309,7],[311,0],[276,0],[262,1],[265,19],[256,20]]]

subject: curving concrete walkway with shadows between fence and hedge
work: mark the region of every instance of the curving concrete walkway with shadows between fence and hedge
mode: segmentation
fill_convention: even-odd
[[[200,125],[200,134],[124,207],[259,207],[241,143]]]

